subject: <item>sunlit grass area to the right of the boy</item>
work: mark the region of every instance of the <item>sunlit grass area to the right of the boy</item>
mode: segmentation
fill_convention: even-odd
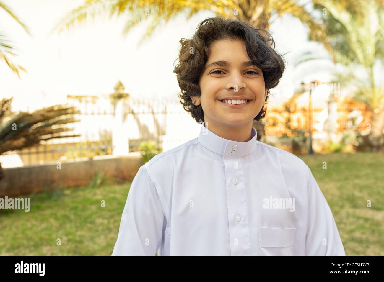
[[[346,255],[384,255],[384,153],[298,157],[310,167],[328,201]]]

